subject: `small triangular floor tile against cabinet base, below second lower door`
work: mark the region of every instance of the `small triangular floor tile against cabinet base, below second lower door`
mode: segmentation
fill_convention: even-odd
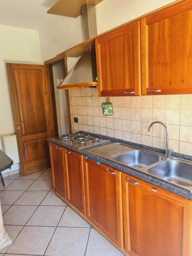
[[[67,207],[58,226],[62,227],[90,227],[74,210]]]

